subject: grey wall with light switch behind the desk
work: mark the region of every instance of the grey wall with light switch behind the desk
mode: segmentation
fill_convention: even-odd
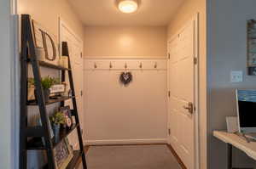
[[[256,19],[255,6],[255,0],[214,0],[207,4],[209,169],[225,168],[225,144],[212,137],[212,130],[226,129],[225,116],[236,115],[236,88],[256,87],[256,77],[247,76],[246,34],[247,20]],[[243,82],[231,83],[231,70],[242,70]],[[238,152],[234,155],[236,167],[237,163],[249,165],[247,155]]]

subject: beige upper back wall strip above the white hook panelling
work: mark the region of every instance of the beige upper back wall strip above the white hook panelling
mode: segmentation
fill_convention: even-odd
[[[85,27],[85,57],[166,56],[166,27]]]

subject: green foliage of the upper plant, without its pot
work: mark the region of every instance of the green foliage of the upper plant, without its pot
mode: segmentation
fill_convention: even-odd
[[[41,79],[41,84],[43,89],[49,89],[53,85],[59,84],[59,83],[60,83],[60,79],[55,77],[46,76]],[[35,85],[34,78],[28,78],[28,87],[32,87],[32,85],[33,86]]]

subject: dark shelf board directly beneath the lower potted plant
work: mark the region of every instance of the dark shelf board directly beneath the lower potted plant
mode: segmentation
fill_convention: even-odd
[[[79,124],[73,124],[73,126],[70,128],[61,129],[59,138],[57,140],[55,140],[55,137],[51,139],[53,148],[55,148],[58,144],[60,144],[64,138],[67,138],[67,136],[71,132],[73,132],[73,130],[76,129],[77,127],[79,127]],[[42,141],[42,138],[32,138],[27,142],[26,147],[27,149],[46,149]]]

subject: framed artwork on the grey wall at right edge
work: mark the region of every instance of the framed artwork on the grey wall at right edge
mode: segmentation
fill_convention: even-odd
[[[256,20],[247,20],[248,75],[256,76]]]

